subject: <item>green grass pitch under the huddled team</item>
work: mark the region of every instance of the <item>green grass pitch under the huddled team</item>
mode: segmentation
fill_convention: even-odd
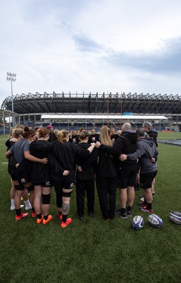
[[[180,282],[181,225],[169,219],[170,212],[181,212],[180,146],[158,145],[153,208],[163,219],[161,228],[151,226],[148,214],[139,212],[137,202],[142,191],[136,192],[133,216],[142,215],[145,224],[141,231],[135,231],[130,218],[115,216],[104,221],[97,194],[94,216],[89,218],[85,210],[85,221],[78,220],[74,190],[70,203],[73,223],[61,229],[54,189],[53,220],[49,224],[37,225],[30,216],[15,221],[15,212],[10,211],[10,177],[7,164],[2,164],[6,162],[6,139],[0,137],[1,283]]]

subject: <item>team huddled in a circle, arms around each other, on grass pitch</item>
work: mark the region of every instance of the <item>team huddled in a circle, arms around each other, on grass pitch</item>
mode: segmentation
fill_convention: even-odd
[[[144,122],[142,129],[132,130],[130,123],[116,132],[103,126],[100,133],[92,129],[55,130],[51,125],[32,130],[17,125],[6,141],[8,173],[11,175],[11,210],[15,220],[27,217],[21,212],[21,199],[25,209],[37,224],[47,224],[51,188],[56,192],[56,207],[61,227],[68,226],[70,197],[76,189],[77,217],[94,214],[94,192],[99,197],[103,219],[111,220],[115,214],[123,219],[132,216],[136,183],[144,189],[144,199],[139,202],[142,212],[153,212],[152,195],[157,174],[157,132],[151,123]],[[120,209],[116,209],[116,190],[120,189]],[[28,198],[29,193],[29,198]]]

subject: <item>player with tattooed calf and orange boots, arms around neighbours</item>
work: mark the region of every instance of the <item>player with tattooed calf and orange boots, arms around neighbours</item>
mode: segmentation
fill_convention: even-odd
[[[56,191],[56,205],[58,207],[61,228],[68,226],[72,219],[68,218],[70,209],[70,196],[75,185],[75,166],[77,156],[89,157],[95,144],[89,149],[68,142],[68,132],[62,130],[57,134],[58,141],[39,144],[37,149],[48,151],[48,160],[51,166],[51,178]],[[33,144],[32,144],[33,146]]]

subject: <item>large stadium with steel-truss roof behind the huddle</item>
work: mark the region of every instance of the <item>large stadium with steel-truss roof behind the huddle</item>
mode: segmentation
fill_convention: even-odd
[[[12,112],[13,110],[13,112]],[[89,130],[102,125],[120,129],[123,122],[139,127],[149,121],[154,128],[179,131],[181,96],[137,93],[22,93],[8,96],[1,105],[1,132],[15,124],[57,129]]]

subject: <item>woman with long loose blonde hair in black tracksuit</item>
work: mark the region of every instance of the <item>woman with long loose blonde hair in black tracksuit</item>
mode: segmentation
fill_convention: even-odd
[[[101,144],[113,145],[111,130],[101,127]],[[99,142],[99,141],[97,141]],[[116,208],[117,167],[116,157],[99,149],[99,161],[96,169],[96,189],[99,205],[105,220],[113,219]]]

